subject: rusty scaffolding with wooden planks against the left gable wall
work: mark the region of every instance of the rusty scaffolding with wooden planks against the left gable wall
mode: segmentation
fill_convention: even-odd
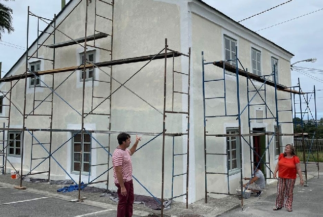
[[[78,39],[73,39],[72,37],[68,36],[67,34],[63,33],[62,30],[59,30],[59,26],[64,22],[64,20],[67,19],[70,14],[79,7],[81,3],[85,3],[85,36],[83,38],[78,38]],[[99,5],[100,4],[100,5]],[[163,115],[163,131],[162,132],[137,132],[137,131],[132,131],[132,132],[127,132],[131,135],[136,135],[140,134],[143,136],[147,137],[152,137],[147,143],[143,144],[141,147],[137,148],[136,151],[141,149],[143,146],[147,145],[149,142],[154,140],[157,137],[162,137],[162,145],[161,145],[161,199],[157,199],[145,186],[142,184],[138,178],[133,176],[135,180],[138,181],[138,183],[159,203],[161,207],[161,215],[163,216],[163,210],[164,210],[164,201],[165,201],[165,173],[169,171],[168,169],[165,168],[165,150],[169,149],[170,147],[172,148],[173,152],[173,158],[172,158],[172,180],[171,180],[171,195],[167,195],[168,200],[172,200],[178,197],[185,197],[186,198],[186,208],[188,208],[188,165],[189,165],[189,101],[190,101],[190,91],[189,91],[189,86],[190,86],[190,48],[188,49],[187,53],[181,53],[176,50],[172,50],[168,47],[168,42],[167,39],[165,40],[165,47],[162,48],[159,52],[151,55],[146,55],[146,56],[137,56],[137,57],[131,57],[131,58],[124,58],[124,59],[113,59],[113,17],[114,17],[114,1],[106,2],[104,0],[94,0],[94,32],[92,35],[87,35],[88,34],[88,7],[89,7],[89,0],[80,0],[74,8],[69,12],[69,14],[61,20],[60,23],[57,23],[57,17],[56,15],[54,16],[53,20],[40,17],[35,15],[34,13],[30,12],[29,7],[28,7],[28,16],[27,16],[27,37],[26,37],[26,47],[27,50],[25,52],[25,72],[20,75],[13,75],[13,76],[8,76],[5,78],[0,79],[0,82],[10,82],[10,90],[8,92],[2,92],[4,94],[4,97],[8,99],[10,102],[9,105],[3,105],[3,106],[8,106],[9,107],[9,116],[6,117],[8,119],[7,126],[4,123],[3,128],[0,129],[0,133],[2,133],[2,150],[1,156],[3,157],[3,167],[2,170],[3,172],[6,171],[6,163],[9,162],[9,159],[7,159],[7,150],[10,148],[10,143],[11,142],[17,142],[19,140],[19,153],[15,154],[20,154],[21,156],[21,163],[20,163],[20,186],[17,187],[17,189],[24,189],[22,186],[22,180],[25,176],[27,175],[36,175],[36,174],[47,174],[48,180],[51,178],[51,167],[52,163],[55,162],[58,167],[61,168],[61,170],[66,173],[67,176],[69,176],[75,183],[78,183],[79,187],[86,186],[89,184],[94,184],[94,183],[99,183],[99,182],[106,182],[107,184],[107,189],[109,188],[109,171],[112,169],[111,167],[111,159],[110,157],[112,156],[111,151],[110,151],[110,139],[111,135],[115,135],[118,133],[121,133],[123,131],[118,131],[115,130],[113,131],[111,129],[111,110],[112,110],[112,98],[113,94],[119,90],[121,87],[125,88],[127,91],[130,91],[133,95],[135,95],[137,98],[139,98],[141,101],[143,101],[145,104],[149,105],[152,107],[154,110],[156,110],[160,115]],[[105,9],[104,14],[108,14],[108,17],[103,16],[103,14],[100,14],[96,9],[101,8],[101,10],[107,7],[109,9]],[[29,17],[36,17],[38,20],[38,38],[35,43],[37,43],[37,49],[34,51],[31,51],[30,48],[33,47],[33,45],[30,46],[28,44],[28,35],[29,35]],[[110,26],[110,31],[109,33],[105,33],[104,30],[100,29],[100,19],[102,21],[105,20],[106,22],[110,22],[108,26]],[[46,24],[48,24],[48,27],[41,32],[39,30],[39,21],[43,21]],[[41,33],[41,34],[40,34]],[[62,36],[68,38],[68,41],[64,42],[57,42],[56,40],[56,35],[61,34]],[[48,35],[43,42],[40,42],[41,36]],[[98,45],[98,42],[100,40],[106,40],[109,39],[110,41],[110,47],[100,47]],[[91,41],[91,44],[89,42]],[[98,42],[97,42],[98,41]],[[50,44],[46,44],[50,43]],[[83,51],[83,56],[80,61],[79,66],[73,66],[73,67],[66,67],[66,68],[56,68],[55,66],[55,53],[57,53],[57,49],[67,47],[67,46],[81,46],[84,48]],[[104,52],[108,52],[110,55],[110,58],[107,59],[106,61],[100,61],[96,62],[95,59],[91,56],[87,56],[87,53],[89,52],[87,50],[88,47],[95,48],[95,49],[100,49],[103,50]],[[44,58],[39,55],[40,49],[49,49],[52,51],[52,58]],[[181,58],[178,58],[181,57]],[[187,72],[182,71],[177,69],[176,64],[176,59],[179,59],[181,61],[183,58],[186,58],[187,60],[184,61],[184,63],[187,63],[187,66],[182,66],[182,69],[187,70]],[[52,64],[52,69],[51,70],[39,70],[38,65],[35,64],[34,68],[30,67],[30,61],[31,60],[43,60],[43,61],[48,61],[49,63]],[[164,89],[164,100],[163,100],[163,111],[158,110],[156,107],[151,105],[148,101],[146,101],[144,98],[140,97],[136,92],[128,88],[125,84],[131,80],[135,75],[137,75],[144,67],[149,65],[152,61],[157,60],[157,59],[164,59],[164,82],[163,86]],[[172,59],[171,62],[171,73],[169,72],[169,63],[168,59]],[[113,77],[113,66],[117,65],[124,65],[124,64],[133,64],[133,63],[142,63],[146,62],[143,64],[143,66],[136,71],[130,78],[128,78],[124,82],[118,81],[116,78]],[[37,63],[37,61],[36,61]],[[107,70],[106,70],[107,69]],[[80,77],[82,79],[82,112],[78,111],[76,108],[72,106],[71,103],[68,102],[68,100],[63,99],[61,97],[61,94],[59,94],[59,88],[66,84],[68,79],[74,74],[76,74],[77,71],[80,71]],[[96,79],[95,73],[98,71],[98,73],[101,73],[102,75],[105,75],[107,79]],[[66,78],[64,78],[59,84],[57,84],[55,81],[54,75],[57,73],[65,73],[68,74]],[[91,94],[90,94],[90,100],[86,97],[86,77],[90,78],[91,84]],[[29,79],[28,79],[29,78]],[[171,79],[169,79],[171,78]],[[177,79],[180,79],[183,83],[181,88],[177,89],[175,82]],[[20,81],[24,81],[24,102],[23,102],[23,111],[19,109],[18,106],[15,105],[15,102],[11,99],[12,95],[12,90],[15,87],[15,85]],[[171,81],[170,81],[171,80]],[[29,81],[29,83],[28,83]],[[49,81],[49,83],[48,83]],[[14,82],[14,83],[13,83]],[[171,82],[171,85],[169,84]],[[95,85],[95,83],[97,85]],[[112,83],[116,84],[118,87],[113,90],[112,89]],[[34,92],[33,92],[33,107],[30,112],[27,112],[27,104],[26,102],[26,95],[27,93],[27,87],[33,86],[34,87]],[[68,85],[68,84],[66,84]],[[102,85],[107,85],[108,86],[108,96],[102,96],[98,95],[98,90],[95,89],[97,86],[102,86]],[[168,94],[168,87],[172,86],[171,88],[171,96]],[[44,89],[42,94],[39,94],[37,89]],[[45,92],[47,91],[47,92]],[[167,103],[168,101],[171,101],[171,106]],[[178,107],[178,105],[175,105],[176,99],[181,99],[182,101],[182,106]],[[66,105],[68,108],[73,109],[75,114],[79,115],[81,117],[81,128],[73,128],[73,129],[58,129],[53,127],[54,126],[54,120],[55,116],[53,116],[53,110],[54,109],[61,109],[61,108],[55,108],[55,100],[60,100],[63,102],[64,105]],[[90,104],[90,111],[86,110],[85,104],[88,103]],[[106,105],[104,112],[99,111],[98,112],[98,107],[101,105]],[[10,123],[10,111],[11,107],[14,106],[15,109],[21,114],[22,117],[22,127],[17,128],[15,126],[11,126]],[[50,108],[49,110],[41,108]],[[47,111],[47,113],[40,113],[41,111]],[[167,126],[167,115],[170,116],[169,118],[174,118],[181,120],[179,124],[182,124],[184,127],[179,127],[179,128],[173,128],[173,126]],[[91,116],[96,116],[100,117],[107,123],[108,129],[107,130],[91,130],[87,129],[85,126],[85,120],[86,118],[90,118]],[[39,123],[42,123],[42,127],[37,127],[35,126],[35,122],[33,121],[28,121],[30,118],[38,118]],[[17,118],[17,117],[16,117]],[[27,119],[28,118],[28,119]],[[185,121],[184,121],[185,120]],[[34,125],[33,125],[34,123]],[[45,126],[45,127],[44,127]],[[10,134],[10,132],[15,132],[14,134]],[[72,133],[71,133],[72,132]],[[7,136],[5,135],[7,133]],[[56,136],[61,135],[61,133],[71,133],[71,138],[69,138],[67,141],[64,141],[62,144],[57,146],[57,142],[55,142],[55,146],[53,145],[53,138]],[[107,135],[108,139],[103,143],[102,141],[99,141],[98,138],[95,138],[92,136],[92,133],[95,134],[100,134],[100,135]],[[54,135],[56,134],[56,135]],[[12,136],[15,136],[14,138]],[[26,137],[31,138],[31,144],[24,143]],[[172,146],[169,145],[168,140],[166,141],[166,138],[172,138]],[[44,139],[45,138],[45,139]],[[179,139],[177,139],[179,138]],[[74,180],[71,174],[68,172],[67,168],[64,168],[55,157],[54,153],[58,153],[62,147],[66,146],[67,143],[71,141],[77,141],[79,143],[79,149],[77,150],[78,156],[77,156],[77,161],[79,165],[79,174],[78,174],[78,180]],[[88,140],[94,140],[96,144],[98,145],[97,147],[93,147],[90,143],[90,145],[86,142]],[[9,142],[10,141],[10,142]],[[185,143],[185,148],[182,148],[183,143]],[[178,144],[180,144],[182,148],[182,151],[178,151],[179,148]],[[27,153],[24,151],[25,148],[28,147],[30,148],[30,168],[29,172],[24,173],[25,168],[23,167],[23,159],[24,155]],[[56,149],[54,149],[56,148]],[[102,152],[106,153],[107,155],[107,160],[105,162],[96,162],[93,163],[91,156],[88,156],[87,153],[93,151],[94,149],[100,149]],[[9,149],[10,150],[10,149]],[[176,160],[178,158],[182,158],[182,160]],[[186,162],[185,165],[186,168],[182,172],[176,171],[174,168],[176,167],[177,162]],[[83,163],[83,164],[82,164]],[[10,163],[11,164],[11,163]],[[82,176],[84,176],[84,173],[82,173],[82,165],[86,165],[86,170],[88,171],[88,174],[85,174],[87,176],[88,181],[85,184],[82,184]],[[13,165],[11,164],[13,167]],[[94,167],[105,167],[103,170],[103,173],[98,175],[97,177],[91,177],[90,172],[93,170]],[[84,166],[85,167],[85,166]],[[14,167],[13,167],[14,168]],[[38,168],[38,170],[43,170],[39,172],[34,172],[35,169]],[[42,168],[42,169],[40,169]],[[17,169],[14,168],[16,171]],[[18,172],[18,171],[17,171]],[[103,175],[107,175],[107,178],[103,178]],[[177,178],[182,178],[185,180],[185,186],[183,188],[186,189],[182,194],[177,194],[178,191],[175,191],[174,189],[174,182],[175,179]],[[91,180],[92,179],[92,180]],[[175,193],[176,192],[176,193]],[[78,201],[82,201],[84,198],[81,197],[81,188],[79,188],[79,193],[78,193]]]

